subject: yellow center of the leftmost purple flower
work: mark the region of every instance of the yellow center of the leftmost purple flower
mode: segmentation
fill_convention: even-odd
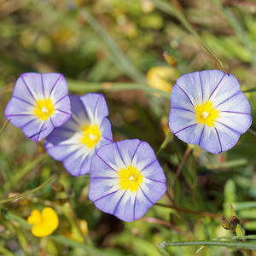
[[[36,108],[34,108],[34,114],[42,120],[47,120],[55,113],[55,107],[51,99],[38,100]]]

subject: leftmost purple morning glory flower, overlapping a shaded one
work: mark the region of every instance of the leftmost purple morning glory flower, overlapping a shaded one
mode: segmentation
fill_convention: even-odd
[[[17,79],[5,117],[35,142],[70,118],[67,81],[60,73],[23,73]]]

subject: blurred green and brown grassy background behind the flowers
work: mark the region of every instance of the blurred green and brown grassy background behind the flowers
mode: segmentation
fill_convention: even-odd
[[[253,0],[0,0],[0,127],[20,73],[63,73],[70,93],[104,93],[114,141],[139,138],[157,151],[168,131],[170,90],[178,76],[221,69],[202,43],[248,91],[255,117]],[[251,128],[256,131],[254,120]],[[230,218],[232,204],[246,235],[256,235],[253,131],[224,154],[193,148],[175,189],[186,144],[174,137],[158,158],[177,207]],[[53,175],[64,191],[48,185],[0,204],[0,255],[256,255],[228,247],[195,253],[199,246],[160,252],[162,241],[208,241],[235,233],[224,230],[218,218],[159,206],[132,223],[100,212],[88,199],[88,176],[72,177],[45,154],[44,143],[8,125],[0,137],[0,197],[34,189]],[[161,202],[171,203],[166,195]],[[54,235],[36,238],[26,218],[45,206],[55,209],[60,226]]]

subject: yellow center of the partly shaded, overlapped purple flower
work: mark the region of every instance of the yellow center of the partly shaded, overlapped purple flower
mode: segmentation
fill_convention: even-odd
[[[82,137],[80,142],[88,148],[94,148],[101,139],[101,131],[98,125],[84,125],[82,127]]]

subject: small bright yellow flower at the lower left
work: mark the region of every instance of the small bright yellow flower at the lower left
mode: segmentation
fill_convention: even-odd
[[[31,230],[32,234],[42,237],[49,236],[57,229],[59,218],[55,210],[50,207],[45,207],[42,213],[38,210],[33,210],[31,215],[27,218],[27,222],[33,224]]]

